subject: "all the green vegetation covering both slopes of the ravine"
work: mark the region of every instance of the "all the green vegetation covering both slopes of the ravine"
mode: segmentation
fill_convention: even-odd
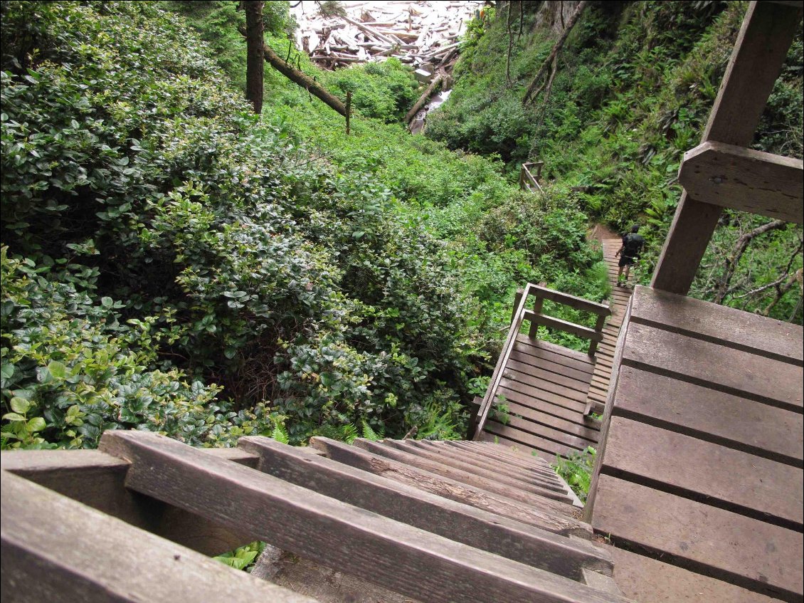
[[[536,14],[512,84],[505,19],[474,23],[454,102],[412,137],[407,68],[319,71],[290,46],[287,2],[267,3],[275,50],[353,93],[347,137],[269,68],[250,113],[236,2],[2,2],[2,446],[89,448],[129,428],[193,445],[413,426],[460,437],[517,285],[605,298],[593,219],[646,221],[657,251],[678,197],[668,182],[744,10],[721,5],[595,7],[535,113],[517,95],[552,43]],[[677,26],[689,32],[667,33]],[[798,43],[757,141],[798,156],[800,55]],[[544,195],[506,175],[528,156],[556,178]],[[761,237],[741,261],[762,273],[734,280],[771,282],[797,236]],[[799,252],[788,272],[800,266]]]

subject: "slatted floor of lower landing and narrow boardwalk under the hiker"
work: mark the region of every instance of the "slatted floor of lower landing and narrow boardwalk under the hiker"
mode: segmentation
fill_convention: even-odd
[[[593,356],[518,334],[497,390],[499,404],[489,414],[482,441],[515,446],[553,460],[556,455],[597,447],[601,415],[609,392],[614,349],[631,289],[617,287],[620,240],[602,241],[612,293],[611,316]]]

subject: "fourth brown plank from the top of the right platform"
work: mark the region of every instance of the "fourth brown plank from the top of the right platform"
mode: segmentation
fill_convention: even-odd
[[[804,527],[802,470],[620,416],[612,417],[601,471],[790,530]]]

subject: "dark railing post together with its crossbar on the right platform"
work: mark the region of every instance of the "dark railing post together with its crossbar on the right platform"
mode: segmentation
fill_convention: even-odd
[[[686,295],[723,207],[802,223],[802,162],[747,149],[801,22],[801,2],[752,2],[700,146],[684,155],[679,207],[651,286]]]

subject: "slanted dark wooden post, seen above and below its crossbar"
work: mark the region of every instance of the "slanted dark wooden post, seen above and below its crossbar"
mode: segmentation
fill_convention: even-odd
[[[701,142],[751,144],[801,18],[797,6],[751,3]],[[720,212],[686,192],[681,195],[650,286],[687,294]]]

